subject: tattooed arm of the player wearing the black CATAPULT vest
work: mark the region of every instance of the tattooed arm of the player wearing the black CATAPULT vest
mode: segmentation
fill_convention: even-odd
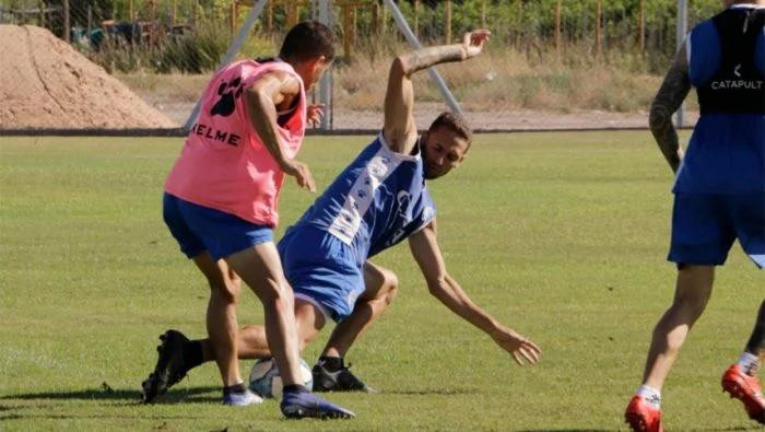
[[[683,159],[683,149],[678,140],[678,131],[672,124],[674,114],[691,91],[688,79],[688,62],[685,44],[680,48],[670,67],[664,82],[654,98],[650,107],[650,130],[659,144],[661,153],[673,172],[678,172],[680,161]]]

